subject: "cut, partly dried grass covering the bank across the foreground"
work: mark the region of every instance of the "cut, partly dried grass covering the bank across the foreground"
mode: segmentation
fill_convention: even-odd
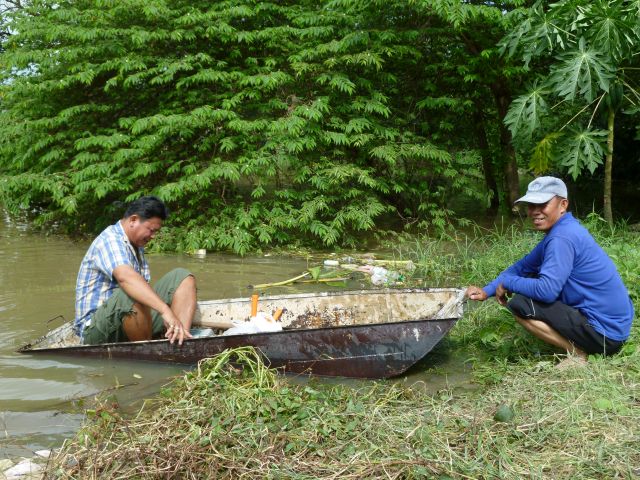
[[[516,365],[456,397],[292,384],[241,348],[202,361],[133,419],[95,410],[47,478],[631,478],[636,361]],[[504,404],[508,422],[496,420]]]

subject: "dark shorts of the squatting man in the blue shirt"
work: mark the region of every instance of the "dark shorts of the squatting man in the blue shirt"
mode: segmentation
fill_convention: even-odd
[[[516,293],[507,306],[523,320],[546,323],[585,353],[613,355],[624,345],[624,342],[611,340],[596,332],[582,313],[562,302],[542,303]]]

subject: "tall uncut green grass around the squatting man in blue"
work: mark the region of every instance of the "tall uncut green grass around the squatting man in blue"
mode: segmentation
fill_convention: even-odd
[[[596,214],[583,222],[616,264],[629,294],[640,308],[640,234],[623,224],[610,226]],[[413,281],[421,286],[484,286],[502,270],[522,258],[542,239],[542,233],[525,224],[498,225],[487,230],[475,226],[468,233],[437,239],[419,237],[400,242],[395,255],[416,265]],[[633,331],[625,351],[638,344]],[[558,353],[517,326],[507,309],[495,301],[469,302],[464,319],[450,336],[469,353],[502,361],[537,359]]]

